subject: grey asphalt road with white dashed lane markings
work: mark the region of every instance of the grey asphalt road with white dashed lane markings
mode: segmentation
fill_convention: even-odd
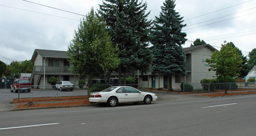
[[[256,95],[0,113],[0,135],[256,135]]]

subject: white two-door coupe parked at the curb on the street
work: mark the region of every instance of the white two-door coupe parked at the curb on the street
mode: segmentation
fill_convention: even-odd
[[[133,87],[109,87],[99,92],[93,92],[90,95],[91,103],[105,104],[116,106],[118,103],[140,103],[150,104],[157,100],[155,93],[148,93],[137,90]]]

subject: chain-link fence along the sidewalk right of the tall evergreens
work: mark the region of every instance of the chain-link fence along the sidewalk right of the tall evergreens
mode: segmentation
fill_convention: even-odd
[[[226,83],[227,90],[237,90],[239,88],[250,88],[256,90],[255,82],[235,82]],[[221,91],[225,89],[225,83],[183,83],[183,92],[209,92]]]

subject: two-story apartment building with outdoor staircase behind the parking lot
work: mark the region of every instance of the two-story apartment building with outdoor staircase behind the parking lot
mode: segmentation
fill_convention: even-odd
[[[34,85],[50,85],[48,79],[51,76],[60,80],[69,80],[74,85],[78,85],[79,76],[72,74],[68,68],[70,64],[67,61],[66,51],[53,51],[47,49],[35,49],[31,61],[34,62],[34,70],[31,75],[31,82]],[[42,86],[42,87],[41,87]],[[50,88],[50,87],[48,87]]]

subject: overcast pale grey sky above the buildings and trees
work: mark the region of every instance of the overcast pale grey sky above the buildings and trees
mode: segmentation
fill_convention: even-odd
[[[82,15],[101,0],[0,0],[0,61],[30,60],[35,49],[66,51]],[[148,0],[149,20],[158,16],[164,0]],[[58,11],[37,2],[68,12]],[[216,49],[232,41],[247,56],[256,48],[256,0],[177,0],[176,12],[184,17],[189,47],[196,38]]]

